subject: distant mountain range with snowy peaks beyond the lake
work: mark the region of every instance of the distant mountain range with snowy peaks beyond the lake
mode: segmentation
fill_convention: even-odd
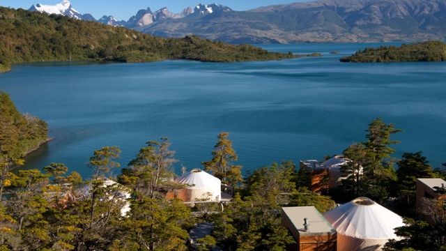
[[[93,18],[77,13],[66,0],[56,6],[63,15]],[[38,4],[30,10],[54,13],[54,8],[43,7]],[[214,3],[181,13],[147,8],[128,21],[112,16],[97,21],[156,36],[194,34],[236,44],[446,40],[446,0],[318,0],[247,11]]]

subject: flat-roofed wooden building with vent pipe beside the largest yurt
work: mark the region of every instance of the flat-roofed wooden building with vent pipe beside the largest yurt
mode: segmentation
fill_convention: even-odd
[[[337,250],[337,232],[314,206],[282,208],[282,226],[289,230],[296,244],[293,251]]]

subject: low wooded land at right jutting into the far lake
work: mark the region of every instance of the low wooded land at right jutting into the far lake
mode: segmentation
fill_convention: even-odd
[[[446,61],[446,44],[440,41],[426,41],[403,43],[400,47],[394,45],[367,47],[351,56],[344,56],[339,61],[351,63]]]

